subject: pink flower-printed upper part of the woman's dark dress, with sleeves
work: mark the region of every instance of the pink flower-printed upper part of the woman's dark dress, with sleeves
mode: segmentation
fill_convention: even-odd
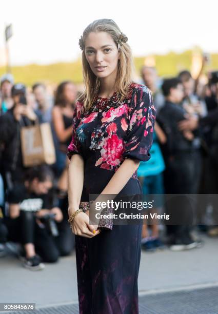
[[[93,158],[95,167],[116,171],[125,158],[147,161],[152,144],[155,108],[150,90],[132,83],[127,99],[108,108],[85,113],[77,102],[68,156]]]

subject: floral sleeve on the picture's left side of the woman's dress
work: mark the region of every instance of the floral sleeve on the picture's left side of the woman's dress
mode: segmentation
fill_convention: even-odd
[[[71,159],[73,154],[82,155],[81,145],[80,145],[80,142],[78,141],[77,134],[76,134],[76,129],[81,122],[81,108],[82,108],[82,104],[80,102],[77,102],[74,113],[73,113],[72,140],[67,149],[67,155],[69,159]]]

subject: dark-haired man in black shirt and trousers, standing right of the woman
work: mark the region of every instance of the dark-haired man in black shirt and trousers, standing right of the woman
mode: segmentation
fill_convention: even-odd
[[[180,105],[183,99],[183,86],[179,78],[169,78],[162,86],[166,98],[157,121],[167,135],[167,147],[164,150],[166,171],[165,191],[167,194],[196,194],[201,176],[201,154],[199,142],[191,131],[180,131],[178,123],[185,119],[186,111]],[[180,225],[168,225],[168,234],[172,237],[172,250],[191,249],[198,244],[191,239],[191,212],[188,206],[177,198],[174,208],[168,207],[171,217],[180,218]],[[187,218],[187,219],[186,219]],[[184,222],[184,223],[183,223]]]

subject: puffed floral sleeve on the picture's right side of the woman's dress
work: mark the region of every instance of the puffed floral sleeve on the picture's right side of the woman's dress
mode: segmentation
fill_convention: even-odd
[[[151,91],[146,86],[137,87],[131,97],[124,158],[140,161],[151,158],[149,150],[153,142],[155,117]]]

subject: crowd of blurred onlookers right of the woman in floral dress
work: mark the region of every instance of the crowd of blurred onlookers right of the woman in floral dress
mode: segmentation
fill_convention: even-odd
[[[193,237],[194,222],[201,231],[218,235],[218,72],[208,73],[208,84],[203,86],[187,70],[166,78],[160,88],[155,68],[143,67],[142,78],[157,109],[151,159],[138,170],[144,194],[177,194],[175,201],[164,203],[159,196],[156,202],[157,212],[164,207],[171,215],[168,245],[175,251],[200,247],[202,241]],[[189,194],[194,198],[191,204]],[[164,248],[158,226],[152,224],[150,229],[143,226],[142,247]]]

